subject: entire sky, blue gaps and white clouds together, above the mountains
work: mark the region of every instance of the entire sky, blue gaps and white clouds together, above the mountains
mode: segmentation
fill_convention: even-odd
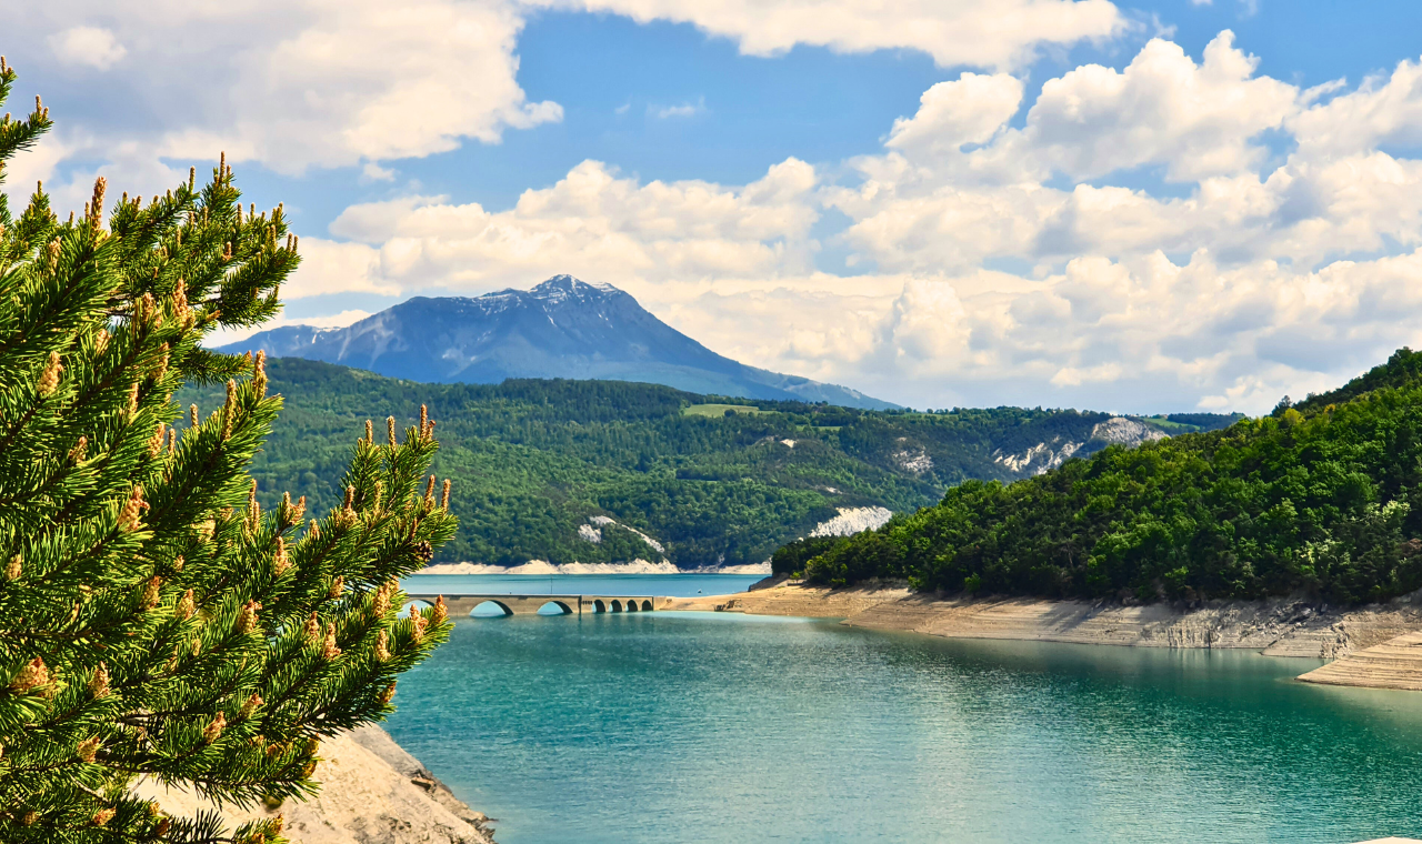
[[[60,119],[10,189],[226,149],[284,321],[567,271],[914,406],[1260,412],[1416,342],[1413,3],[249,6],[0,0]]]

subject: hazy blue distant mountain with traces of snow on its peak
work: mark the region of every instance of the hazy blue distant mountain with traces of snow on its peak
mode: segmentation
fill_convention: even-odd
[[[220,351],[266,350],[425,382],[577,378],[663,384],[702,395],[897,405],[715,354],[610,284],[555,276],[529,291],[415,297],[347,328],[287,325]]]

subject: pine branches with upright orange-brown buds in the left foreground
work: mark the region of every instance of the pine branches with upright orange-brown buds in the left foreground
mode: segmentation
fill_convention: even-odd
[[[0,102],[13,81],[0,60]],[[48,126],[7,117],[0,168]],[[18,216],[0,195],[0,840],[279,843],[129,786],[303,797],[321,737],[391,712],[449,628],[397,620],[395,578],[455,531],[418,490],[432,423],[367,428],[344,500],[297,536],[304,503],[262,507],[246,472],[282,406],[263,361],[199,347],[277,310],[282,209],[243,209],[225,163],[107,222],[104,195],[67,222],[41,188]],[[179,436],[185,381],[225,392]]]

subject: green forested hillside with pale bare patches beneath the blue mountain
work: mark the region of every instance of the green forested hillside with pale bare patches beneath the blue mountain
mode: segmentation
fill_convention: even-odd
[[[290,490],[314,512],[337,504],[365,419],[380,436],[387,415],[404,428],[425,402],[438,421],[435,472],[454,479],[459,517],[439,560],[503,566],[761,563],[840,507],[913,512],[970,477],[1014,480],[1062,452],[1099,450],[1122,425],[1153,435],[1230,421],[870,412],[620,381],[417,384],[290,358],[267,371],[286,405],[252,472],[263,502]],[[208,413],[222,391],[192,388],[178,401]],[[1106,439],[1092,439],[1098,429]]]

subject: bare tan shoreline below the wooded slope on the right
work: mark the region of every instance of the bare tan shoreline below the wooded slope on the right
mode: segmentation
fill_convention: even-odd
[[[1422,600],[1331,608],[1305,600],[1128,607],[1109,601],[941,597],[902,584],[842,590],[768,578],[747,593],[674,600],[667,610],[843,618],[869,629],[946,638],[1028,639],[1136,648],[1241,648],[1331,659],[1300,679],[1422,691]]]

